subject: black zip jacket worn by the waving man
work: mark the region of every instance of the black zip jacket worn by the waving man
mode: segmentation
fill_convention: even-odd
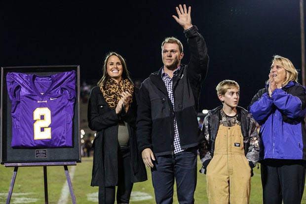
[[[173,154],[174,116],[181,148],[198,145],[198,99],[208,67],[207,47],[193,26],[185,32],[191,52],[188,65],[181,64],[173,78],[174,108],[162,80],[162,68],[146,79],[137,94],[137,142],[139,151],[151,148],[156,156]],[[173,111],[174,109],[174,111]]]

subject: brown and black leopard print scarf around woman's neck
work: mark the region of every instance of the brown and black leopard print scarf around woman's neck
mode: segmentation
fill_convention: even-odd
[[[133,95],[134,85],[127,79],[121,79],[119,83],[116,83],[115,80],[109,78],[100,85],[100,89],[110,108],[115,109],[118,101],[121,98],[120,94],[123,91],[128,91],[131,95]],[[131,103],[132,100],[130,100],[129,105]]]

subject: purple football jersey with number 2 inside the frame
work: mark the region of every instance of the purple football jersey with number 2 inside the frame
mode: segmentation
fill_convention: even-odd
[[[12,103],[11,147],[72,147],[76,72],[7,73]]]

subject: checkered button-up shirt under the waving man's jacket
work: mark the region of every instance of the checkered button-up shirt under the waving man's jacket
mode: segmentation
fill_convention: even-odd
[[[181,67],[178,67],[176,70],[174,70],[173,77],[177,75],[180,68]],[[172,103],[172,106],[174,108],[174,97],[173,97],[173,89],[172,89],[173,77],[170,78],[169,75],[164,72],[164,69],[162,69],[161,77],[162,77],[162,81],[165,82],[167,92],[168,92],[168,96],[169,96],[169,98],[171,100],[171,103]],[[176,123],[175,116],[174,116],[174,142],[173,142],[173,144],[174,144],[174,154],[184,151],[181,148],[179,130],[178,130],[178,126],[177,126],[177,123]]]

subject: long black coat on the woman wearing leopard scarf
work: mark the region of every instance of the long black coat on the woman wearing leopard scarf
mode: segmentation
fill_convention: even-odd
[[[96,130],[91,186],[115,186],[118,181],[117,149],[118,122],[127,122],[131,157],[131,182],[147,180],[146,167],[137,149],[136,142],[136,99],[125,113],[116,114],[105,101],[99,86],[93,87],[88,102],[88,126]]]

